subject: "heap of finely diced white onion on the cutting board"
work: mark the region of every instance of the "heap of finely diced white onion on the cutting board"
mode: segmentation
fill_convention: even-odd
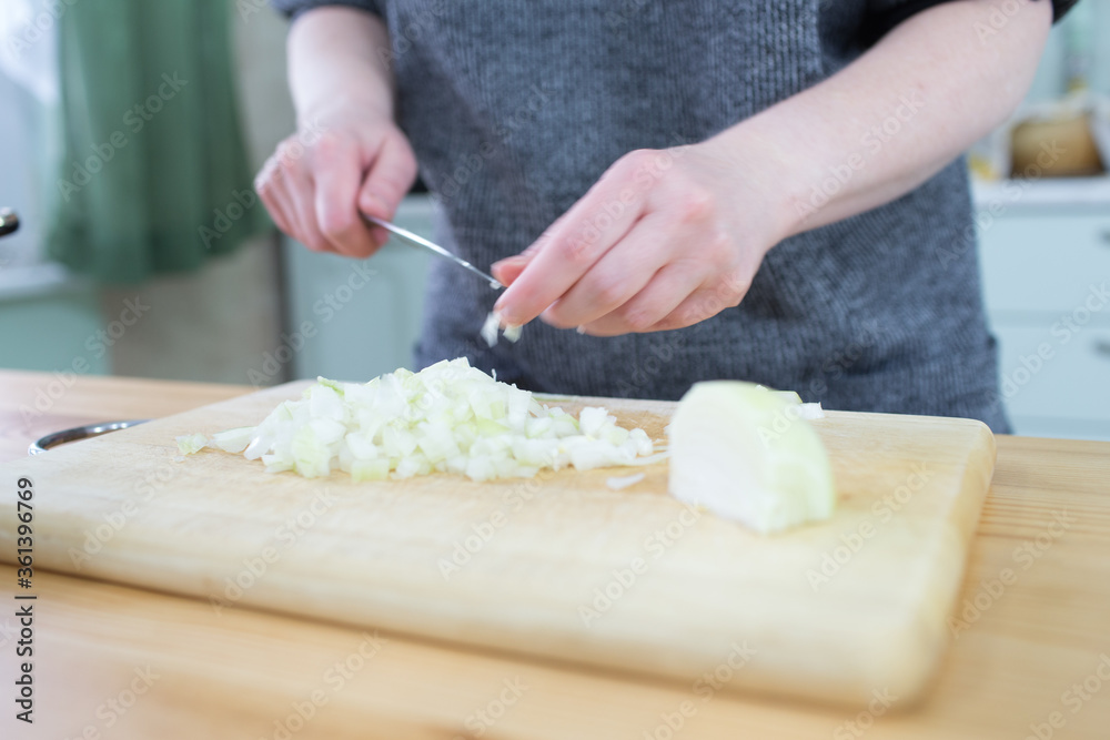
[[[604,408],[585,408],[576,419],[465,358],[365,385],[319,378],[300,401],[279,404],[256,427],[216,434],[212,446],[261,459],[270,472],[312,478],[340,469],[355,480],[431,473],[491,480],[666,458],[653,454],[646,432],[618,426]]]

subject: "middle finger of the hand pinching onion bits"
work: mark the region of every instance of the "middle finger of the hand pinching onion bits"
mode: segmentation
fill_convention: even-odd
[[[558,328],[573,328],[619,308],[643,291],[655,273],[669,262],[669,252],[677,241],[668,216],[658,211],[645,215],[571,290],[544,311],[543,320]]]

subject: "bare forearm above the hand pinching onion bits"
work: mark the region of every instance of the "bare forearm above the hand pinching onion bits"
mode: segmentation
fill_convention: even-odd
[[[996,30],[993,2],[924,11],[857,61],[710,140],[781,193],[781,239],[892,201],[1002,122],[1031,83],[1047,0],[1020,0]]]

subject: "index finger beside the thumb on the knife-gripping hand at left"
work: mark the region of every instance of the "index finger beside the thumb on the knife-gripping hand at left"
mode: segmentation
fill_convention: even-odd
[[[345,142],[321,141],[314,156],[315,216],[331,247],[350,257],[369,257],[379,243],[359,211],[362,169],[357,150]]]

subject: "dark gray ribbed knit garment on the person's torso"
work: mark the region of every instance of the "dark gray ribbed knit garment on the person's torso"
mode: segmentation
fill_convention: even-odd
[[[936,1],[275,4],[355,6],[386,20],[400,122],[445,214],[437,237],[487,268],[623,154],[704,140]],[[416,364],[465,355],[534,391],[644,398],[743,378],[827,408],[966,416],[1005,432],[975,239],[957,161],[888,205],[777,245],[739,307],[693,327],[596,338],[533,322],[494,348],[478,330],[496,294],[435,261]]]

